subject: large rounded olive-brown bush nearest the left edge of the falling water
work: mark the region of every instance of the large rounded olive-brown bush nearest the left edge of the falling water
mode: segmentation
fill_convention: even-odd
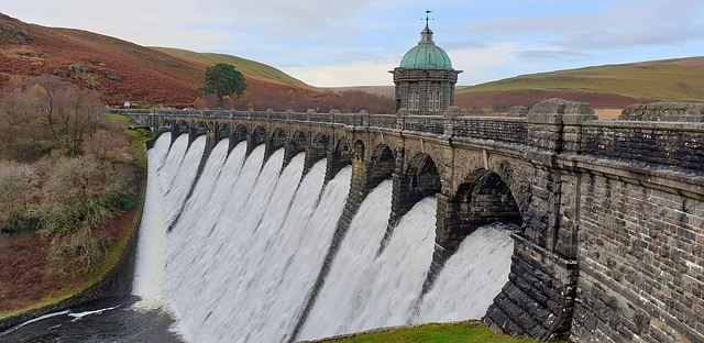
[[[92,155],[61,157],[45,168],[40,232],[52,239],[50,264],[62,273],[90,268],[105,253],[99,229],[136,204],[135,187],[120,165]]]

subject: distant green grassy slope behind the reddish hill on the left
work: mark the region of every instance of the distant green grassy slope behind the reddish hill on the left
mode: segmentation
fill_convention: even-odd
[[[248,75],[250,77],[277,81],[284,85],[290,85],[295,87],[312,89],[312,87],[306,85],[301,80],[293,78],[292,76],[289,76],[288,74],[282,70],[278,70],[265,64],[261,64],[258,62],[254,62],[254,60],[250,60],[250,59],[245,59],[237,56],[231,56],[231,55],[196,53],[187,49],[173,48],[173,47],[152,46],[150,48],[168,54],[176,58],[193,60],[193,62],[197,62],[208,66],[212,66],[219,63],[227,63],[227,64],[233,65],[235,69],[240,70],[242,74]]]

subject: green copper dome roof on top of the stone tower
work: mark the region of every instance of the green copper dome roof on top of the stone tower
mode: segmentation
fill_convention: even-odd
[[[418,45],[409,49],[400,60],[402,68],[413,69],[452,69],[448,54],[432,42],[432,31],[426,29],[420,33]]]

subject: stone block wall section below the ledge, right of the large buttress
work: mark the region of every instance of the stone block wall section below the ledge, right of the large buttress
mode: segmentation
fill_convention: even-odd
[[[704,342],[704,202],[591,176],[581,184],[578,342]]]

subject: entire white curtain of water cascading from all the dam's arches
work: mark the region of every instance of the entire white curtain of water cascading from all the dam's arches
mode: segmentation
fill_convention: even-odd
[[[433,197],[404,215],[376,255],[391,212],[391,181],[370,192],[346,235],[332,242],[351,167],[323,182],[324,161],[304,175],[302,154],[282,168],[283,150],[264,162],[264,146],[245,158],[244,144],[228,154],[224,140],[194,185],[205,144],[188,146],[178,137],[169,148],[169,141],[162,136],[148,154],[134,291],[174,311],[187,341],[288,342],[481,318],[486,299],[507,280],[513,241],[499,228],[485,228],[465,240],[421,298],[433,253]],[[340,248],[314,297],[332,244]]]

